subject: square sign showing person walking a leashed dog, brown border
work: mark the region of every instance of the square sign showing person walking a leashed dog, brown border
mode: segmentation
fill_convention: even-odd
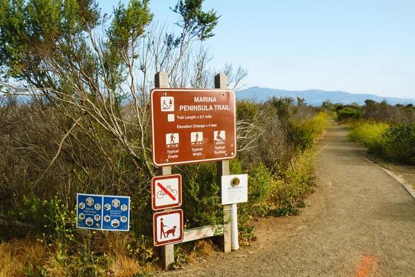
[[[183,240],[183,211],[172,210],[155,213],[154,245],[161,246]]]

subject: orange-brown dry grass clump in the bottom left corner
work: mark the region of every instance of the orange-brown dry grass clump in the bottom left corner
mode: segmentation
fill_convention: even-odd
[[[0,244],[0,277],[24,276],[44,265],[47,257],[43,242],[33,238],[2,242]]]

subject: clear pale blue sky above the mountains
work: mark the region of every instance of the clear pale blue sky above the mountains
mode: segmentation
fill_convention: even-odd
[[[100,1],[111,13],[115,1]],[[127,0],[122,1],[127,3]],[[153,0],[174,24],[176,0]],[[221,15],[211,66],[249,70],[247,87],[415,98],[415,1],[205,0]]]

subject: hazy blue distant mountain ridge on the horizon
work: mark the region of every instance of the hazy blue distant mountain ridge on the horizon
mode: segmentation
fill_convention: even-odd
[[[346,91],[322,91],[320,89],[308,89],[306,91],[284,91],[281,89],[267,89],[265,87],[250,87],[249,89],[237,91],[237,99],[239,100],[249,98],[255,102],[263,102],[273,96],[288,96],[293,98],[299,96],[301,98],[305,98],[308,105],[313,106],[321,106],[324,100],[330,100],[333,103],[342,102],[345,105],[353,102],[357,102],[359,105],[365,105],[366,99],[375,100],[376,102],[386,100],[390,105],[407,105],[409,103],[415,105],[415,99],[381,97],[373,94],[357,94]]]

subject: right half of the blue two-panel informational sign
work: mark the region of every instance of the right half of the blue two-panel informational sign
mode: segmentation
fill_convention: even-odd
[[[129,197],[104,195],[102,229],[129,231]]]

